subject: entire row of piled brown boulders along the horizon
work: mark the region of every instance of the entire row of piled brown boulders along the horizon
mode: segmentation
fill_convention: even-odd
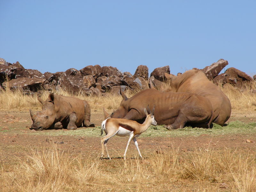
[[[204,69],[195,69],[203,71],[215,84],[230,83],[241,87],[244,82],[256,79],[256,75],[252,78],[236,68],[228,68],[219,75],[227,65],[227,60],[220,59]],[[147,89],[149,84],[162,89],[163,82],[166,81],[164,73],[170,74],[169,66],[155,68],[148,78],[148,67],[145,65],[138,66],[134,75],[130,72],[122,73],[111,66],[89,65],[80,70],[70,68],[65,72],[42,74],[36,69],[25,69],[18,61],[11,64],[0,58],[0,90],[22,89],[31,94],[41,89],[64,89],[68,92],[99,96],[105,92],[119,93],[120,89],[140,91]]]

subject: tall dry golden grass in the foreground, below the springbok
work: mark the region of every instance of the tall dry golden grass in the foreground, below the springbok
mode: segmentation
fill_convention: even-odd
[[[139,158],[100,160],[99,156],[30,149],[7,169],[1,165],[1,191],[239,191],[256,190],[256,153],[209,146],[179,148]]]

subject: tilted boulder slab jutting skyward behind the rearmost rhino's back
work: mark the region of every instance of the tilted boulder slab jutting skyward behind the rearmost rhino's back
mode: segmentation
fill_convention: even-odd
[[[212,63],[212,65],[206,66],[204,69],[201,69],[201,71],[203,71],[207,76],[207,78],[211,81],[227,65],[228,65],[227,60],[220,59],[216,63]]]

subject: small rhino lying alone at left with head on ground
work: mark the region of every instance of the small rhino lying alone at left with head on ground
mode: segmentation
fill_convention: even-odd
[[[29,109],[33,121],[30,129],[76,129],[82,123],[84,127],[90,126],[91,111],[87,101],[53,93],[45,101],[40,96],[38,100],[43,105],[42,111],[35,115]]]

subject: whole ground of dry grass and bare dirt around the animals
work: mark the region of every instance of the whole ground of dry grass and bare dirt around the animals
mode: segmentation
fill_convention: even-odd
[[[224,86],[231,120],[211,129],[169,131],[150,126],[139,138],[142,156],[128,138],[108,142],[112,160],[100,160],[102,107],[111,112],[121,96],[75,95],[89,102],[94,128],[31,131],[28,109],[40,110],[37,95],[0,93],[0,189],[7,191],[256,191],[256,96]],[[67,92],[60,92],[70,95]],[[45,99],[48,92],[42,92]],[[126,92],[130,97],[134,93]],[[247,142],[246,142],[247,140]]]

